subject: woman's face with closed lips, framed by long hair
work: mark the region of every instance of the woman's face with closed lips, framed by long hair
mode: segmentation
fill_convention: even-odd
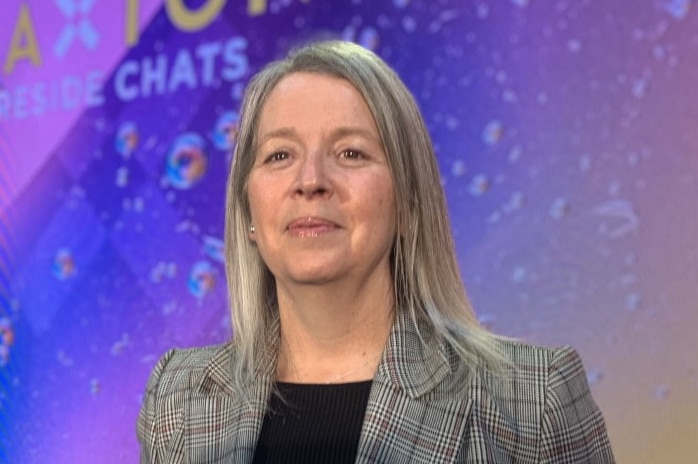
[[[343,79],[290,74],[264,104],[257,140],[250,239],[277,284],[360,285],[389,272],[393,179],[361,94]]]

